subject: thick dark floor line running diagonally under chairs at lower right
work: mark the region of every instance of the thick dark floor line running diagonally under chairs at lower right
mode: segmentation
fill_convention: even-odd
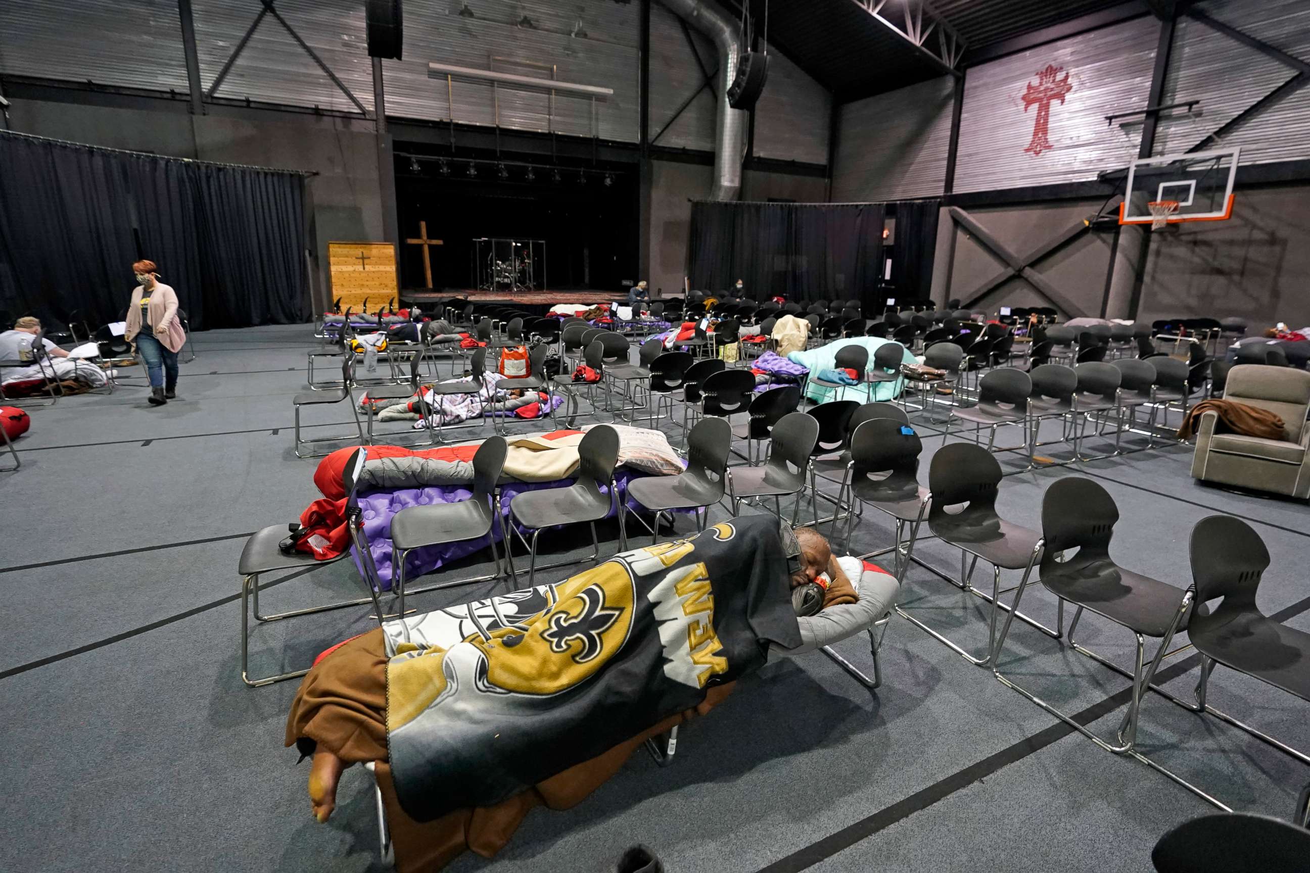
[[[1269,618],[1275,622],[1286,622],[1307,610],[1310,610],[1310,597],[1300,599],[1296,603],[1273,613]],[[1200,656],[1193,653],[1182,661],[1176,661],[1157,671],[1155,685],[1165,685],[1166,682],[1187,674],[1188,670],[1197,666],[1200,666]],[[1106,698],[1104,700],[1100,700],[1099,703],[1094,703],[1070,717],[1086,728],[1094,721],[1128,704],[1129,700],[1132,700],[1132,686]],[[793,852],[791,855],[787,855],[786,857],[778,859],[773,864],[761,868],[758,873],[799,873],[799,870],[811,868],[815,864],[850,848],[855,843],[869,839],[896,822],[909,818],[920,810],[927,809],[939,800],[945,800],[955,792],[968,788],[980,779],[992,776],[1000,770],[1023,760],[1028,755],[1041,751],[1047,746],[1064,739],[1072,733],[1074,733],[1074,729],[1064,721],[1058,721],[1049,728],[1043,728],[1031,737],[1024,737],[1019,742],[1007,746],[993,755],[988,755],[982,760],[969,764],[964,770],[956,771],[950,776],[933,783],[927,788],[914,792],[909,797],[878,810],[872,815],[848,825],[840,831],[823,838],[817,843],[812,843]]]

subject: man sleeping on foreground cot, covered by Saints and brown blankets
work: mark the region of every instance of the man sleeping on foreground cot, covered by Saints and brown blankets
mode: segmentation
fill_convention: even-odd
[[[388,622],[321,656],[292,703],[313,815],[328,821],[346,766],[375,762],[397,869],[490,856],[532,806],[582,801],[770,647],[800,647],[793,589],[824,577],[825,609],[858,601],[821,535],[751,516]]]

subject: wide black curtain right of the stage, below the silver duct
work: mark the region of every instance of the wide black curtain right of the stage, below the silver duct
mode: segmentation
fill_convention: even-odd
[[[858,297],[869,308],[878,294],[883,217],[882,203],[697,202],[686,275],[696,291],[723,292],[740,279],[756,300]]]

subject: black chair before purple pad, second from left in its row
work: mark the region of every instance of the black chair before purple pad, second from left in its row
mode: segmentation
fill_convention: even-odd
[[[504,513],[500,510],[500,472],[504,469],[504,458],[508,452],[510,444],[502,436],[487,437],[478,446],[473,454],[473,495],[468,500],[406,507],[392,516],[392,547],[394,548],[392,565],[400,615],[405,615],[406,594],[422,594],[423,592],[486,582],[502,577],[514,580],[514,556],[510,554],[510,539],[504,535],[507,533]],[[506,546],[504,564],[502,564],[500,552],[495,547],[493,525],[496,522],[500,524],[502,541]],[[486,538],[491,547],[491,559],[495,561],[494,573],[455,581],[444,580],[406,590],[409,581],[405,561],[411,551],[482,538]],[[406,639],[409,639],[409,626],[405,622],[401,622],[401,626],[405,628]]]

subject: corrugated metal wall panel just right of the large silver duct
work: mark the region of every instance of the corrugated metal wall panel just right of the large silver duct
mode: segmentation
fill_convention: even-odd
[[[832,94],[777,51],[755,105],[755,154],[783,161],[828,162]]]

